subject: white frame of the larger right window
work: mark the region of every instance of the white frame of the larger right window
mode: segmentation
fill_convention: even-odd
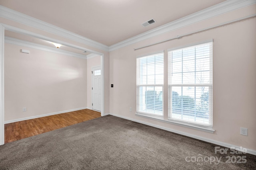
[[[200,126],[200,127],[206,127],[206,128],[209,128],[209,127],[212,127],[213,125],[213,107],[212,107],[212,104],[213,104],[213,95],[212,95],[212,90],[213,90],[213,63],[212,63],[212,53],[213,53],[213,50],[212,50],[212,46],[213,46],[213,39],[210,39],[210,40],[206,40],[206,41],[202,41],[202,42],[198,42],[198,43],[193,43],[193,44],[189,44],[189,45],[184,45],[182,47],[177,47],[177,48],[174,48],[174,49],[169,49],[168,50],[168,53],[169,51],[175,51],[175,50],[178,50],[178,49],[184,49],[184,48],[187,48],[187,47],[193,47],[193,46],[198,46],[198,45],[203,45],[203,44],[206,44],[206,43],[210,43],[210,83],[209,84],[171,84],[170,83],[170,80],[169,80],[169,76],[171,74],[171,59],[170,57],[168,56],[168,120],[169,121],[172,121],[172,122],[175,122],[175,123],[182,123],[184,125],[196,125],[196,126]],[[194,86],[194,87],[198,87],[198,86],[205,86],[205,87],[208,87],[209,88],[209,117],[210,117],[210,122],[207,124],[207,123],[198,123],[196,121],[187,121],[187,120],[182,120],[182,119],[176,119],[174,117],[172,117],[172,87],[189,87],[189,86]]]

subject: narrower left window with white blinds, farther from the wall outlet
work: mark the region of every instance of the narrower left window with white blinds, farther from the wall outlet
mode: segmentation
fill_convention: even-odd
[[[137,112],[163,116],[164,53],[137,58]]]

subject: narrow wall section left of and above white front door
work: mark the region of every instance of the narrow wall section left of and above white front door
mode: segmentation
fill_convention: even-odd
[[[87,107],[92,109],[92,67],[100,66],[100,55],[87,59]]]

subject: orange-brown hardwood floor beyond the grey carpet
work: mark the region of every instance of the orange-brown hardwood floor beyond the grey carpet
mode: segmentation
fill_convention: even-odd
[[[17,141],[62,127],[100,117],[100,112],[90,109],[71,111],[4,125],[4,143]]]

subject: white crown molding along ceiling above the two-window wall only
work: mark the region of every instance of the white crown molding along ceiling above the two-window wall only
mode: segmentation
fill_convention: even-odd
[[[191,24],[194,24],[194,23],[197,23],[200,21],[214,18],[216,16],[220,16],[222,14],[232,12],[232,11],[238,10],[240,8],[244,8],[246,6],[250,6],[255,3],[256,3],[256,0],[227,0],[220,4],[216,4],[214,6],[206,8],[206,9],[196,12],[194,14],[185,16],[183,18],[172,21],[170,23],[167,23],[167,24],[157,27],[155,29],[151,29],[150,31],[147,31],[145,33],[141,33],[132,38],[129,38],[129,39],[126,39],[119,43],[116,43],[114,45],[111,45],[109,47],[109,51],[113,51],[113,50],[125,47],[127,45],[131,45],[131,44],[137,43],[139,41],[155,37],[157,35],[161,35],[161,34],[164,34],[164,33],[170,32],[170,31],[174,31],[176,29],[180,29],[182,27],[186,27],[188,25],[191,25]]]

